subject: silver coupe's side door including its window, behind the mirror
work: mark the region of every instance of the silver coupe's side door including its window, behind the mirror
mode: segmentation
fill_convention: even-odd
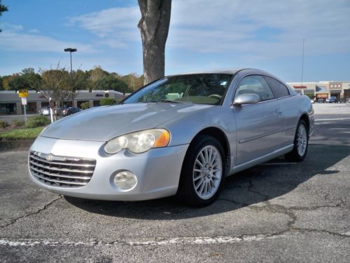
[[[243,93],[259,95],[255,104],[234,106],[237,126],[236,165],[272,153],[281,141],[279,102],[260,75],[244,76],[235,90],[235,97]]]

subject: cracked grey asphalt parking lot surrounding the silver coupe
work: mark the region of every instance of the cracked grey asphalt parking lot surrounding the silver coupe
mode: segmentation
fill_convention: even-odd
[[[207,208],[52,194],[0,152],[1,262],[349,262],[350,104],[314,104],[307,158],[229,177]]]

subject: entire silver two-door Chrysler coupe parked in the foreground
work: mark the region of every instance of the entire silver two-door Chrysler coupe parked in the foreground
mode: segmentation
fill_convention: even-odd
[[[302,161],[313,127],[309,97],[267,72],[166,76],[118,105],[45,128],[30,148],[29,174],[39,187],[66,196],[176,195],[204,206],[229,175],[282,155]]]

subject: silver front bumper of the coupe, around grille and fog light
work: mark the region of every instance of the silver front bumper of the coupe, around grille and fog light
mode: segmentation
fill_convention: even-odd
[[[122,150],[109,155],[103,150],[104,142],[58,140],[39,136],[30,151],[55,156],[80,157],[96,160],[90,182],[84,187],[56,187],[44,184],[31,174],[31,180],[43,189],[80,198],[115,201],[141,201],[176,194],[183,159],[188,144],[151,149],[143,154]],[[113,184],[113,175],[130,170],[137,175],[137,185],[129,191]]]

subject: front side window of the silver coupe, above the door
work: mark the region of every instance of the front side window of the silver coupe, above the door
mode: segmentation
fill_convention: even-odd
[[[260,102],[274,99],[272,90],[269,88],[265,79],[259,75],[246,76],[239,81],[235,95],[238,96],[244,93],[258,95],[260,97]]]

